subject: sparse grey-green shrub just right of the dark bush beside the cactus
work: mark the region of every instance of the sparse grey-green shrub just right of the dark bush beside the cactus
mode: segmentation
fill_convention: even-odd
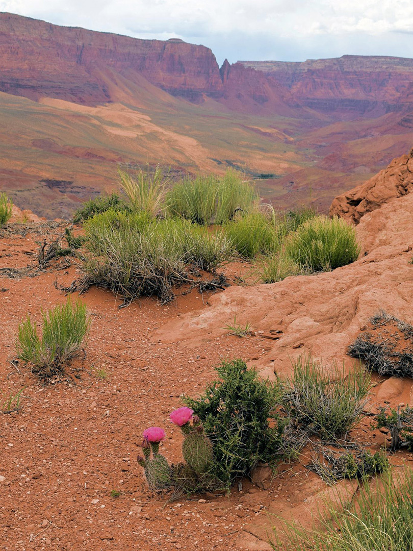
[[[334,439],[345,436],[361,419],[370,382],[361,369],[347,377],[337,368],[325,374],[310,356],[300,357],[285,383],[282,404],[287,415],[309,433]]]

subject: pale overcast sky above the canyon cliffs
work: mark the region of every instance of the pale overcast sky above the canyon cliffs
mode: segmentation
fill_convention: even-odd
[[[0,12],[145,39],[178,37],[210,47],[220,64],[225,57],[413,57],[412,0],[0,0]]]

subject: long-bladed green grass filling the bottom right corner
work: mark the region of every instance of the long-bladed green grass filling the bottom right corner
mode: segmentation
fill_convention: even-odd
[[[296,551],[413,551],[413,473],[395,483],[385,473],[378,488],[363,485],[354,503],[337,497],[329,504],[320,526],[305,529],[286,523],[283,541],[275,534],[274,549]]]

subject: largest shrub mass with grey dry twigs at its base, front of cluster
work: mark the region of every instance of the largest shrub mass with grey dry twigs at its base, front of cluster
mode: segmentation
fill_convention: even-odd
[[[156,295],[167,302],[174,286],[190,282],[188,264],[213,271],[232,252],[222,232],[211,234],[182,219],[155,220],[145,211],[110,210],[84,228],[83,267],[89,282],[126,301]]]

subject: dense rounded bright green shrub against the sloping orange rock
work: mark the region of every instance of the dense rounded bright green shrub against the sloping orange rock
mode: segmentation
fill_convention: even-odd
[[[340,218],[312,218],[287,236],[285,253],[313,272],[327,271],[357,260],[356,230]]]

